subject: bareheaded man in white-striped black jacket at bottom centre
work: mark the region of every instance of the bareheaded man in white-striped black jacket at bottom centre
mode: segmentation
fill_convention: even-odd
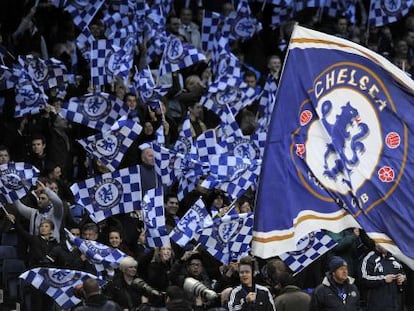
[[[273,298],[267,287],[256,284],[253,280],[254,261],[243,257],[239,262],[240,285],[230,293],[228,308],[236,310],[276,310]]]

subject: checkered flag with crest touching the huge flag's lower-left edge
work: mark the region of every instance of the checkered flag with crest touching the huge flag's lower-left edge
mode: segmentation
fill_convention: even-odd
[[[197,240],[212,256],[229,264],[232,253],[248,253],[252,230],[253,213],[225,215],[215,218],[213,226],[205,228]]]

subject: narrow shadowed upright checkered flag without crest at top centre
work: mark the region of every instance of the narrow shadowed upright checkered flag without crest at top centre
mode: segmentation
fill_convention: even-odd
[[[201,48],[204,52],[213,51],[213,42],[220,33],[224,17],[217,13],[204,10],[201,24]]]

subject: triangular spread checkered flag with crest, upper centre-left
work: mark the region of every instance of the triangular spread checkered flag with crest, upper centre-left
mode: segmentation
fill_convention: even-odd
[[[182,42],[178,37],[171,35],[161,58],[159,75],[163,76],[204,60],[206,56],[192,44]]]

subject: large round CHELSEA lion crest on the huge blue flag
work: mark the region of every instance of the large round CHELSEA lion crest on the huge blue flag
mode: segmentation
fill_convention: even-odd
[[[388,89],[370,69],[342,62],[316,76],[308,94],[291,145],[300,179],[317,197],[317,189],[323,188],[350,196],[352,206],[369,210],[393,191],[403,170],[386,161],[402,154],[406,132],[403,123],[385,120],[383,111],[395,110]],[[390,122],[393,128],[385,132],[381,124],[389,127]],[[308,168],[300,164],[302,159]],[[381,185],[383,192],[370,191],[371,183]]]

